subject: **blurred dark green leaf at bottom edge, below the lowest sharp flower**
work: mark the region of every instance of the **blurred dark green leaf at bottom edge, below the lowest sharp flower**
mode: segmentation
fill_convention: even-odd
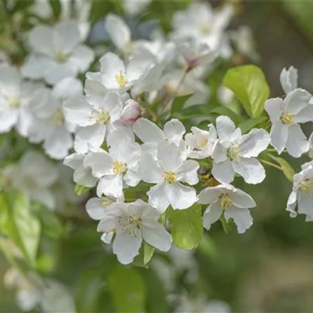
[[[108,277],[108,288],[118,312],[143,312],[145,282],[134,269],[118,265]]]

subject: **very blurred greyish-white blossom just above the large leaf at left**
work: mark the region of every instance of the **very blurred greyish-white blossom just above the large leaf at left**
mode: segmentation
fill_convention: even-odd
[[[58,179],[58,169],[41,153],[28,150],[19,164],[11,168],[9,181],[31,200],[42,202],[49,209],[56,207],[51,187]]]

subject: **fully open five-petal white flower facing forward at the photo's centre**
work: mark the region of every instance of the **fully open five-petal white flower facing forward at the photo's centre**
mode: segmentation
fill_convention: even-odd
[[[195,189],[182,183],[198,183],[199,164],[186,159],[187,155],[181,146],[165,141],[158,145],[157,160],[150,153],[143,153],[140,159],[141,179],[155,184],[147,193],[149,204],[160,213],[165,212],[169,205],[173,209],[183,210],[197,201]]]

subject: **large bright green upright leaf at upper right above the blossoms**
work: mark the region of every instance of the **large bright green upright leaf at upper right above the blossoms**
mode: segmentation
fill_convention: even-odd
[[[260,68],[254,65],[230,68],[223,84],[235,93],[249,116],[255,118],[261,115],[270,88]]]

